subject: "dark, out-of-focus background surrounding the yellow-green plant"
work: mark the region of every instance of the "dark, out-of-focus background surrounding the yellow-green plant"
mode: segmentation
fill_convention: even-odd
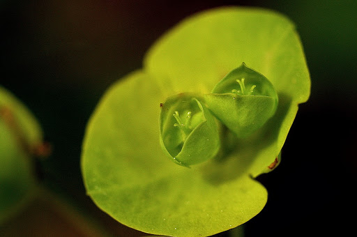
[[[86,122],[110,84],[142,67],[162,33],[227,5],[270,8],[293,20],[312,79],[280,166],[258,178],[268,203],[246,224],[246,236],[355,233],[357,1],[0,1],[0,84],[31,109],[54,147],[37,162],[40,180],[112,234],[139,236],[85,195]]]

